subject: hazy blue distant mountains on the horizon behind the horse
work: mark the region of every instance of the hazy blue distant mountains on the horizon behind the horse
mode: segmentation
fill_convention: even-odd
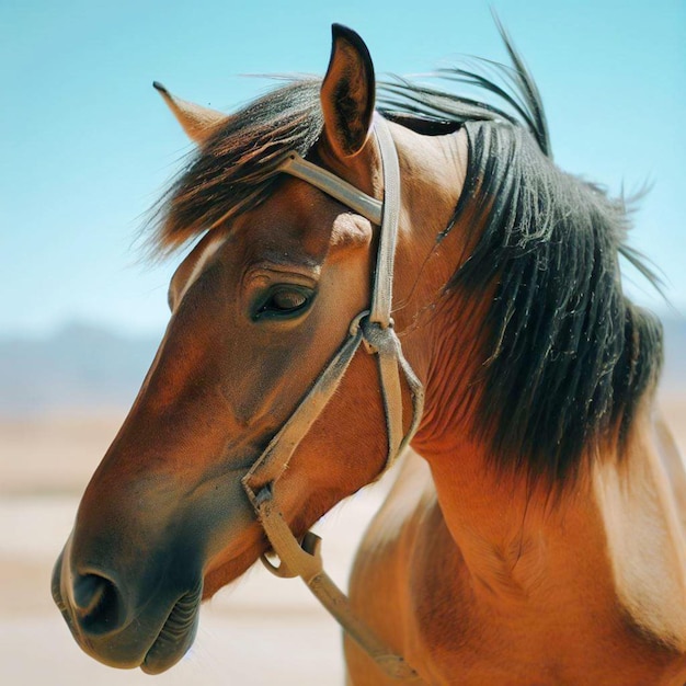
[[[662,390],[686,396],[686,319],[666,319]],[[44,339],[0,339],[0,416],[126,409],[158,338],[125,338],[76,323]]]

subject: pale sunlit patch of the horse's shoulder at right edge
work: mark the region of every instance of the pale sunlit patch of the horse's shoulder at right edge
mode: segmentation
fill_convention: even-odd
[[[598,467],[595,485],[621,608],[655,652],[684,668],[686,469],[652,408],[641,411],[624,464]]]

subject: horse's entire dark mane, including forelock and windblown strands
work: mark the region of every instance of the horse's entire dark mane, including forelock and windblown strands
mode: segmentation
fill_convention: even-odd
[[[559,485],[602,447],[621,451],[658,377],[662,333],[622,294],[620,254],[654,283],[625,244],[624,201],[552,163],[540,96],[502,33],[513,67],[483,61],[481,70],[438,75],[495,95],[500,106],[400,79],[380,84],[379,99],[385,116],[418,130],[467,132],[469,167],[450,227],[476,213],[481,236],[446,288],[473,298],[494,289],[471,380],[482,399],[475,430],[496,466]],[[319,88],[306,79],[268,93],[199,149],[162,198],[161,252],[274,191],[283,156],[307,155],[321,134]]]

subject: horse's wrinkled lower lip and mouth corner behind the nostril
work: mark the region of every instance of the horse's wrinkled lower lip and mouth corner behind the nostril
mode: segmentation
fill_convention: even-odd
[[[176,601],[140,663],[142,672],[161,674],[185,655],[197,633],[202,594],[201,584]]]

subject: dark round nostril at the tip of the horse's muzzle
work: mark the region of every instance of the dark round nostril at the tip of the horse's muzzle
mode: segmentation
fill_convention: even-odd
[[[122,595],[112,581],[99,574],[75,580],[73,603],[81,628],[92,636],[115,631],[124,620]]]

